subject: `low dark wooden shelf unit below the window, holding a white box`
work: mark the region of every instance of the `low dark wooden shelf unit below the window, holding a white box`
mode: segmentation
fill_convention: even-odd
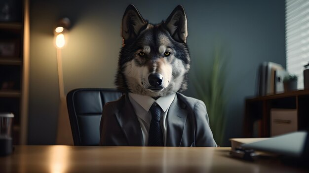
[[[309,128],[309,89],[245,100],[244,136],[270,137],[270,110],[272,108],[296,109],[298,130]],[[253,129],[258,124],[257,129]],[[257,130],[257,136],[253,136]]]

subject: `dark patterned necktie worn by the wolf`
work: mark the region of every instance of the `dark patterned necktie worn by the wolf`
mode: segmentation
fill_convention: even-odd
[[[151,122],[149,128],[148,146],[164,146],[163,134],[160,126],[161,107],[154,103],[150,107]]]

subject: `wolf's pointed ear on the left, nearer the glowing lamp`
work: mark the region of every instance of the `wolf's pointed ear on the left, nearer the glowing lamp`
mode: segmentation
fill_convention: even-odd
[[[121,35],[124,40],[135,38],[146,22],[134,5],[130,4],[126,8],[122,18]]]

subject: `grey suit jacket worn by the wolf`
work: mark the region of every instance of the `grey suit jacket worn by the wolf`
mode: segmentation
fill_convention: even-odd
[[[217,146],[205,104],[176,93],[167,117],[166,146]],[[128,95],[104,105],[100,145],[144,146],[142,130]]]

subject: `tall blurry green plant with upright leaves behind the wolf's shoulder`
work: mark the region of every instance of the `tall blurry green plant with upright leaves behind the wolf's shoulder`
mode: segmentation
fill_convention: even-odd
[[[215,47],[210,66],[200,63],[195,69],[193,86],[197,98],[207,106],[210,128],[218,145],[224,145],[227,100],[229,93],[224,92],[226,81],[227,57],[220,45]]]

